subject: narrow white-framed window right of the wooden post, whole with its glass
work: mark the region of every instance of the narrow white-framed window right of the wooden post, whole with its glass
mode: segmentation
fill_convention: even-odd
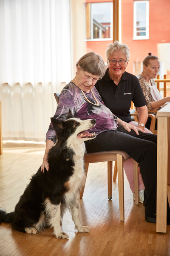
[[[149,39],[149,1],[133,2],[133,39]]]

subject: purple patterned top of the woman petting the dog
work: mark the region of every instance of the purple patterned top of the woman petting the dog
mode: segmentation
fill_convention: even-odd
[[[90,103],[93,102],[96,104],[91,91],[90,93],[84,92],[85,96],[90,101],[88,102],[77,85],[72,82],[65,85],[59,95],[59,104],[54,117],[65,120],[68,110],[70,109],[72,115],[79,119],[96,119],[96,125],[88,130],[91,133],[95,132],[96,134],[99,134],[102,131],[117,129],[117,116],[115,116],[110,109],[104,105],[95,87],[92,88],[92,91],[99,102],[99,106]],[[52,124],[50,124],[48,128],[46,140],[52,140],[54,143],[56,143],[56,134]]]

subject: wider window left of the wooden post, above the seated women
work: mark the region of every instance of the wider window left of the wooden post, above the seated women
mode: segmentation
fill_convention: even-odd
[[[113,38],[113,2],[85,3],[85,40]]]

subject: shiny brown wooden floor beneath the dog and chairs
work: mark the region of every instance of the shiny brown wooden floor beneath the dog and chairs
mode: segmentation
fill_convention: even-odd
[[[32,174],[42,163],[45,143],[3,144],[0,155],[0,207],[13,211]],[[113,182],[113,199],[107,199],[107,163],[90,164],[80,219],[90,233],[74,230],[67,212],[62,229],[69,235],[58,240],[53,230],[29,235],[0,225],[0,256],[168,256],[170,227],[156,233],[156,224],[144,220],[144,207],[136,206],[125,177],[125,221],[119,221],[117,182]]]

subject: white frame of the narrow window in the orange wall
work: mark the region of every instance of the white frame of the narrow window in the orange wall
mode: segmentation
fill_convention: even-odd
[[[146,35],[136,35],[138,30],[136,26],[136,6],[138,3],[146,3]],[[142,32],[142,31],[141,31]],[[133,40],[147,40],[149,39],[149,0],[133,1]]]

